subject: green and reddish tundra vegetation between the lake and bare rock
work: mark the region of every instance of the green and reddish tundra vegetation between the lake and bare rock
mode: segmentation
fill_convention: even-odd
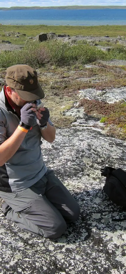
[[[100,41],[91,45],[88,41],[76,41],[74,44],[62,41],[33,41],[40,32],[67,33],[73,35],[123,35],[126,26],[4,26],[0,25],[0,42],[9,40],[22,45],[22,49],[0,52],[0,77],[5,79],[6,67],[16,64],[27,64],[37,69],[39,82],[42,85],[44,101],[50,109],[51,119],[57,127],[69,127],[75,120],[72,116],[62,115],[78,101],[78,91],[95,88],[120,88],[126,86],[126,66],[109,66],[102,61],[126,60],[126,45],[112,41]],[[15,33],[19,32],[19,37]],[[6,33],[11,33],[9,36]],[[22,34],[26,35],[22,35]],[[18,35],[17,35],[18,36]],[[100,47],[109,46],[104,51]],[[92,64],[92,67],[86,67]],[[82,80],[83,78],[83,80]],[[85,78],[85,80],[84,80]],[[2,81],[3,84],[3,81]],[[2,88],[1,84],[1,88]],[[126,140],[126,102],[108,104],[104,101],[82,99],[79,107],[84,112],[100,118],[104,129],[111,136]]]

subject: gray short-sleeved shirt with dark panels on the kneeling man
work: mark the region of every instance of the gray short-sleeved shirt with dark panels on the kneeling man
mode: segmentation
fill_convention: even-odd
[[[37,104],[41,101],[38,100]],[[4,88],[0,93],[0,144],[16,130],[20,117],[8,105]],[[51,120],[48,120],[53,125]],[[29,188],[47,172],[41,153],[42,136],[34,118],[33,128],[26,134],[16,153],[0,167],[0,190],[13,192]]]

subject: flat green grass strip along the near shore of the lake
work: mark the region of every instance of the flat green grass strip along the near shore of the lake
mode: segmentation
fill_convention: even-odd
[[[114,26],[44,26],[44,25],[0,25],[0,35],[4,36],[4,32],[20,32],[26,33],[26,36],[37,36],[37,34],[44,32],[55,32],[57,34],[69,34],[70,36],[105,36],[111,37],[125,36],[126,25]],[[19,38],[18,38],[19,39]],[[109,39],[109,38],[108,38]],[[1,38],[2,40],[2,38]],[[9,40],[9,37],[8,37]]]

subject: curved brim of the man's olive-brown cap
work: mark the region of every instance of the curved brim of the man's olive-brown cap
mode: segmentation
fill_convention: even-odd
[[[24,91],[15,88],[16,93],[25,101],[34,101],[44,98],[44,91],[38,83],[38,88],[33,91]]]

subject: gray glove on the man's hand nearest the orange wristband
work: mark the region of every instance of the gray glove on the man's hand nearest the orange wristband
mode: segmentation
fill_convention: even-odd
[[[24,107],[21,108],[21,122],[25,125],[28,125],[29,128],[32,127],[34,117],[36,113],[31,109],[32,103],[27,103]],[[25,126],[24,126],[25,127]]]

